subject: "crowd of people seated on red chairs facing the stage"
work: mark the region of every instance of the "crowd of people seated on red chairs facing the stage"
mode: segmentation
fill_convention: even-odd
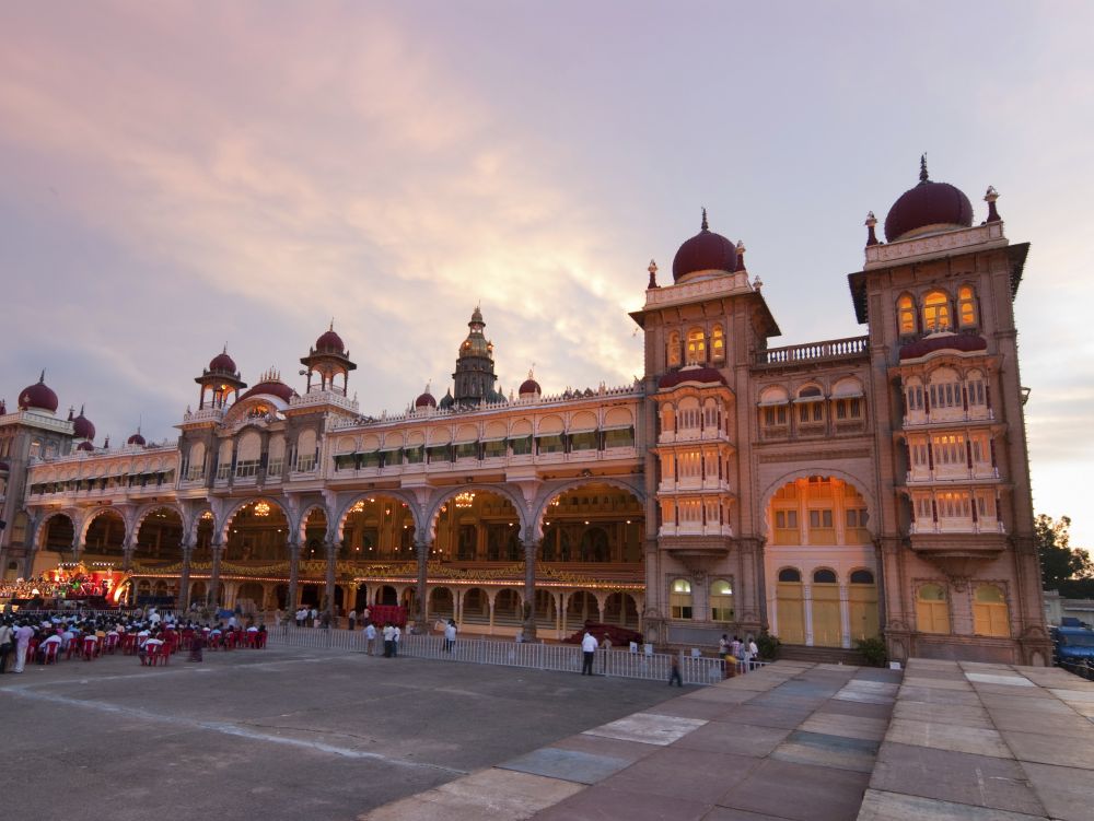
[[[234,649],[266,646],[266,625],[240,624],[233,615],[225,624],[202,624],[147,612],[118,614],[34,613],[0,620],[0,672],[22,672],[27,662],[54,664],[73,657],[88,661],[103,655],[136,655],[141,665],[166,664],[179,649],[200,661],[203,648]]]

